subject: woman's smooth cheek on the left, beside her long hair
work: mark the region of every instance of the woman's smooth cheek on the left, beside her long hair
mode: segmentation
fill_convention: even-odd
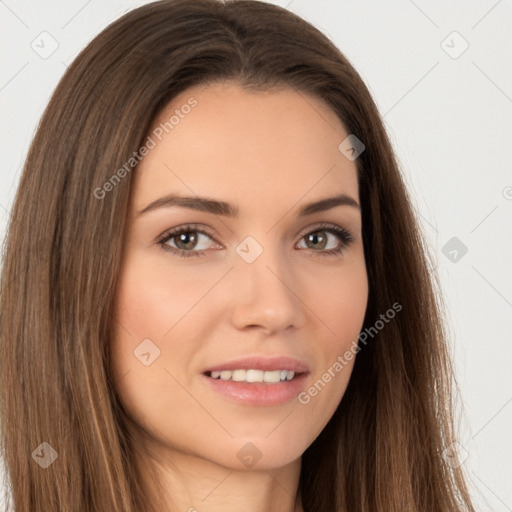
[[[117,380],[138,382],[134,396],[168,397],[171,375],[188,379],[204,332],[218,318],[211,301],[201,299],[221,275],[212,270],[198,278],[197,271],[171,267],[160,255],[126,259],[116,294],[112,364]]]

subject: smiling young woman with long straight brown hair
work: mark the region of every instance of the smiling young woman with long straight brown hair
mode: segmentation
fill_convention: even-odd
[[[473,511],[426,254],[318,30],[244,0],[126,14],[62,78],[12,211],[15,510]]]

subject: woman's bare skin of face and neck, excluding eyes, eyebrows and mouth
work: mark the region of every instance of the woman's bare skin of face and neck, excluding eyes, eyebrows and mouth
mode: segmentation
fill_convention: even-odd
[[[184,91],[153,127],[190,97],[197,106],[133,177],[112,348],[135,464],[148,492],[163,493],[160,510],[300,512],[301,455],[336,410],[354,359],[306,405],[235,403],[202,373],[247,355],[287,355],[309,364],[307,390],[357,340],[368,299],[360,209],[298,216],[306,203],[336,194],[359,203],[355,162],[338,150],[348,133],[318,99],[233,83]],[[178,206],[138,215],[169,193],[233,203],[239,217]],[[324,222],[353,242],[318,232]],[[185,243],[203,256],[159,245],[160,235],[189,223],[213,235],[194,232],[197,244]],[[308,245],[309,233],[324,238]],[[263,249],[250,264],[235,250],[247,236]],[[177,236],[167,241],[179,244]],[[134,356],[145,339],[160,350],[148,366]],[[261,453],[252,467],[237,457],[248,442]]]

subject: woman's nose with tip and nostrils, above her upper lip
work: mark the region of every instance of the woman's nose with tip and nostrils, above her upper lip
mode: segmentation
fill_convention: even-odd
[[[307,297],[284,255],[268,248],[252,263],[238,259],[232,272],[232,322],[238,329],[274,334],[304,325]]]

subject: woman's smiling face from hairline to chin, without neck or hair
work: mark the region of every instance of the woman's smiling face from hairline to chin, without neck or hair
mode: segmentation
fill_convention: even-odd
[[[348,135],[313,97],[237,85],[188,89],[155,121],[134,171],[113,367],[159,458],[280,467],[333,415],[368,298]]]

